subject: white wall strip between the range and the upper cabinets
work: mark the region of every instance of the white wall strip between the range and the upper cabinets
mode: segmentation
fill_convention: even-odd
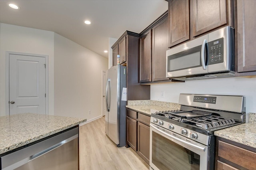
[[[164,91],[164,97],[161,97]],[[151,85],[150,99],[178,103],[180,93],[244,95],[246,113],[256,113],[256,77],[191,80],[185,83]]]

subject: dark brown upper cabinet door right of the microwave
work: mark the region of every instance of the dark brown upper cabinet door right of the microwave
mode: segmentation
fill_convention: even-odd
[[[237,0],[238,72],[256,71],[255,0]]]

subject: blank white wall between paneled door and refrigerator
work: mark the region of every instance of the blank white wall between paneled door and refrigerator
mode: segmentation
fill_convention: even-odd
[[[107,69],[107,58],[54,33],[54,115],[100,117],[102,70]]]

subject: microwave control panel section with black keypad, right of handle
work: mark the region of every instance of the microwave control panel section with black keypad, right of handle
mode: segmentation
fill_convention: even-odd
[[[234,29],[227,26],[208,37],[208,72],[234,71]]]

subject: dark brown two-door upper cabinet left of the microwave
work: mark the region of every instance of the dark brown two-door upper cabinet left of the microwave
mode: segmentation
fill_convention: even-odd
[[[166,78],[168,11],[140,33],[140,83],[182,82]]]

